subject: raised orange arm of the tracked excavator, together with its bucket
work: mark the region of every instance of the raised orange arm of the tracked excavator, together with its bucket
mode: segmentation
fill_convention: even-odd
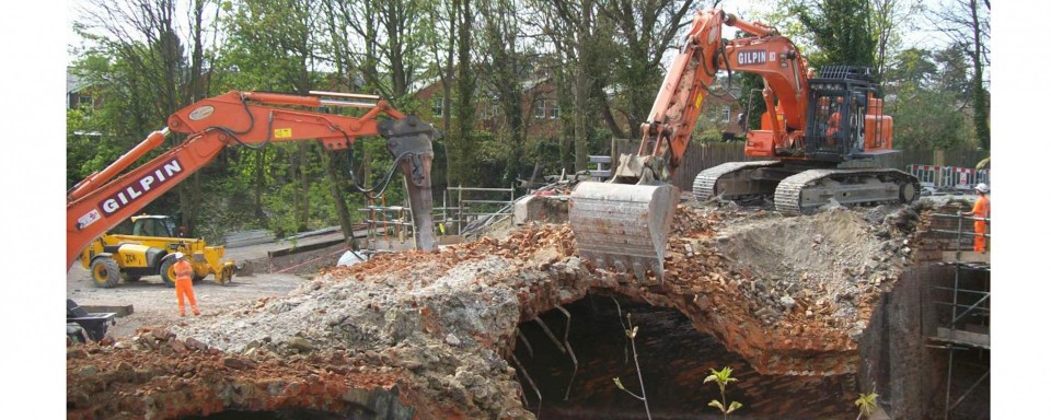
[[[727,42],[725,25],[751,36]],[[720,9],[698,11],[642,126],[638,152],[619,156],[609,182],[580,183],[570,195],[569,223],[581,257],[599,268],[631,271],[640,280],[647,272],[662,278],[668,232],[680,196],[666,182],[685,155],[720,69],[763,77],[769,109],[764,118],[775,122],[773,135],[757,139],[757,149],[772,151],[790,142],[789,132],[802,135],[807,62],[796,47],[763,24],[740,21]]]

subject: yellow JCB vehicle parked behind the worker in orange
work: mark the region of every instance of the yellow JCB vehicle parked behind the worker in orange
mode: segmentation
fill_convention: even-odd
[[[165,285],[174,288],[176,252],[189,256],[195,282],[208,275],[213,275],[218,284],[233,279],[234,261],[222,261],[223,246],[182,237],[175,221],[166,215],[132,215],[130,235],[100,236],[84,249],[80,262],[91,270],[91,278],[100,288],[116,287],[122,278],[131,282],[145,276],[160,276]]]

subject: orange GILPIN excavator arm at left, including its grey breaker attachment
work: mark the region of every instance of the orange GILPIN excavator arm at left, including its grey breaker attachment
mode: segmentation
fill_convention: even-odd
[[[350,117],[305,109],[319,107],[353,107],[367,112],[360,117]],[[160,147],[170,132],[184,133],[187,138],[157,158],[125,172],[146,153]],[[81,253],[106,231],[139,213],[149,202],[209,164],[228,147],[262,147],[269,142],[309,140],[320,141],[328,151],[340,151],[349,149],[358,138],[376,135],[386,139],[386,149],[394,156],[394,166],[386,179],[393,175],[395,167],[405,174],[416,224],[417,249],[435,249],[434,222],[430,218],[434,208],[430,167],[434,160],[431,142],[437,131],[432,126],[402,114],[374,95],[335,92],[290,95],[233,91],[201,100],[174,113],[168,119],[168,127],[150,133],[116,162],[70,189],[66,198],[67,267],[72,267]],[[362,188],[355,184],[357,190],[365,194],[379,194],[385,185],[381,183],[373,188]],[[150,257],[170,258],[163,252],[153,253]],[[106,257],[96,255],[93,258]],[[92,267],[109,271],[119,269],[113,261],[109,262]],[[153,267],[162,266],[161,261],[152,262]]]

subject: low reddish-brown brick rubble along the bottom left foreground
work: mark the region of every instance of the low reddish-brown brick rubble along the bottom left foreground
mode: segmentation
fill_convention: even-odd
[[[67,349],[68,419],[175,419],[230,407],[273,411],[313,407],[369,410],[411,419],[411,395],[397,372],[362,368],[362,358],[332,351],[278,357],[265,350],[231,354],[166,328],[141,329],[120,341]],[[419,405],[423,406],[423,405]]]

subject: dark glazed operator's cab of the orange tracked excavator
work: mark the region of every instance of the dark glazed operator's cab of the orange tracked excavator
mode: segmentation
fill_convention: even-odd
[[[876,91],[871,70],[831,66],[809,82],[807,156],[839,163],[864,153],[868,97]]]

